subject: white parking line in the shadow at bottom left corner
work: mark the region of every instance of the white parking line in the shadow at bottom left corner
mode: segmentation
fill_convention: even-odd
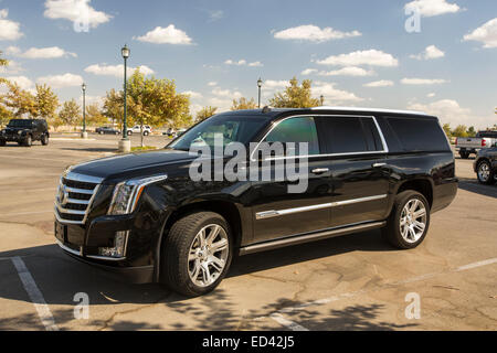
[[[46,331],[59,331],[57,325],[55,324],[55,320],[53,319],[52,312],[50,311],[49,306],[46,304],[45,299],[43,298],[42,292],[36,286],[36,282],[31,276],[28,267],[25,267],[24,261],[19,256],[12,257],[12,263],[18,270],[19,278],[24,286],[28,296],[31,299],[34,308],[38,311],[38,315],[40,317],[41,322],[45,327]]]

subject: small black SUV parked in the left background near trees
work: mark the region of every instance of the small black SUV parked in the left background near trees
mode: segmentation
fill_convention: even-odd
[[[12,119],[7,128],[0,131],[0,146],[7,142],[18,142],[20,146],[31,147],[33,141],[49,145],[49,125],[43,119]]]

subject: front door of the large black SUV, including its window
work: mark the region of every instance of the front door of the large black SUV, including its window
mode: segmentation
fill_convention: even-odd
[[[268,132],[263,142],[308,143],[308,165],[303,170],[307,180],[302,181],[307,188],[302,192],[290,191],[289,186],[298,183],[286,178],[284,181],[251,180],[254,243],[327,228],[330,222],[329,172],[326,161],[319,158],[320,147],[314,117],[286,118]],[[260,161],[257,167],[251,165],[251,169],[257,168],[261,172],[266,161]],[[288,159],[284,159],[285,163],[276,161],[282,160],[273,159],[271,165],[266,165],[272,176],[286,168]]]

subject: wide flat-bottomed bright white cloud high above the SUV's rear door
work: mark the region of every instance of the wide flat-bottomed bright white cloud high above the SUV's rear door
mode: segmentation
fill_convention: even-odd
[[[398,66],[399,61],[391,54],[383,53],[382,51],[369,50],[357,51],[349,54],[340,54],[328,56],[325,60],[317,61],[320,65],[336,65],[336,66]]]

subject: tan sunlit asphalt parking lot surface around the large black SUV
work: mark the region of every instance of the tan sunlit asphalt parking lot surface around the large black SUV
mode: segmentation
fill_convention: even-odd
[[[218,290],[186,299],[112,281],[55,245],[60,174],[113,153],[117,140],[59,135],[47,147],[0,148],[0,330],[497,329],[497,185],[476,182],[473,160],[457,158],[458,195],[414,250],[395,250],[374,231],[248,255]],[[88,296],[87,318],[78,293]],[[417,319],[405,313],[412,298]]]

